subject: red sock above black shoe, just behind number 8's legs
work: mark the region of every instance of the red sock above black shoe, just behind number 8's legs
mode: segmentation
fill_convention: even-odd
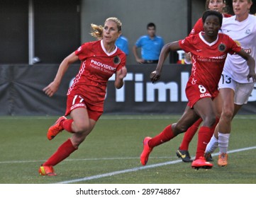
[[[191,139],[194,137],[194,134],[196,134],[197,129],[199,129],[199,125],[201,124],[203,120],[199,118],[189,129],[187,129],[187,132],[185,132],[184,137],[182,139],[182,144],[180,144],[179,149],[180,150],[189,150],[189,143]]]

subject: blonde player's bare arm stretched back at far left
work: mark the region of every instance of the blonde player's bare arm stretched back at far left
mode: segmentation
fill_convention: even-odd
[[[57,71],[57,74],[54,78],[54,80],[45,88],[43,88],[43,91],[46,95],[49,97],[52,97],[52,95],[57,91],[57,89],[60,86],[60,82],[62,80],[62,77],[66,73],[68,67],[73,62],[76,62],[79,58],[77,55],[73,52],[72,54],[69,54],[60,64],[59,69]]]

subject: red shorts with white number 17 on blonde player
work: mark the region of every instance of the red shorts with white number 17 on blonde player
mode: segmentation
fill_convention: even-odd
[[[67,95],[67,108],[65,116],[69,115],[72,110],[77,108],[86,108],[90,119],[95,121],[99,120],[99,117],[101,117],[103,111],[91,110],[91,107],[93,107],[93,105],[87,103],[81,95]]]

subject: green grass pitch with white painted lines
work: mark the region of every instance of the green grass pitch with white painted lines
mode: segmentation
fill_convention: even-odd
[[[142,141],[155,136],[179,116],[104,115],[77,151],[55,166],[57,177],[38,175],[38,168],[70,134],[52,141],[48,127],[57,117],[0,117],[1,184],[256,184],[255,115],[233,120],[229,165],[219,168],[217,153],[211,170],[194,170],[182,163],[176,150],[183,134],[157,146],[148,165],[140,165]],[[197,135],[190,145],[196,150]],[[217,152],[217,151],[216,151]]]

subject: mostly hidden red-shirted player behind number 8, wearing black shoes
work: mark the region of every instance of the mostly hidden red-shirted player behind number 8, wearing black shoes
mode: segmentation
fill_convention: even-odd
[[[227,7],[226,7],[226,1],[225,0],[206,0],[206,10],[212,10],[212,11],[218,11],[219,13],[222,13],[223,18],[228,18],[232,15],[226,13]],[[194,25],[194,28],[191,30],[189,35],[196,35],[200,33],[201,31],[204,31],[203,28],[203,21],[202,18],[199,18],[198,21],[196,21],[196,24]],[[221,103],[221,98],[215,100],[215,103]],[[217,105],[220,106],[220,105]],[[219,120],[219,117],[221,117],[221,110],[216,109],[216,120]],[[184,133],[184,137],[182,139],[182,143],[180,144],[178,150],[177,150],[177,156],[179,158],[182,158],[182,161],[184,162],[191,162],[191,157],[189,154],[189,143],[194,137],[194,134],[196,134],[197,129],[199,128],[199,125],[203,122],[201,118],[197,120],[186,133]],[[207,161],[213,161],[211,158],[211,155],[208,156]]]

